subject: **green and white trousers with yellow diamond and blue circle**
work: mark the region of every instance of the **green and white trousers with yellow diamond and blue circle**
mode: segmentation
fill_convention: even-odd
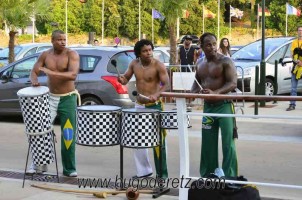
[[[50,115],[52,119],[59,116],[61,126],[61,157],[63,174],[76,172],[75,139],[77,95],[50,95]]]

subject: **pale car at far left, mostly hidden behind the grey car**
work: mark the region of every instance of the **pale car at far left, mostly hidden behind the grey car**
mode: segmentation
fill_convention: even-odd
[[[50,43],[28,43],[16,45],[14,48],[15,60],[20,60],[21,58],[35,54],[37,52],[45,51],[47,49],[50,49],[51,47],[52,44]],[[0,67],[8,64],[8,53],[8,47],[0,51]]]

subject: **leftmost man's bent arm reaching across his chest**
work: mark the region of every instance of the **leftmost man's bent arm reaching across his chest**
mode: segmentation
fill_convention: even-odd
[[[76,51],[69,50],[68,54],[68,70],[66,72],[52,71],[45,67],[40,67],[40,71],[43,71],[48,76],[52,76],[56,79],[74,81],[77,78],[80,69],[80,56]]]

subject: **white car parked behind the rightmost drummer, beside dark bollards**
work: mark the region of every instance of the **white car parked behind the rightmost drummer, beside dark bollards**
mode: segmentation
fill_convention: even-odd
[[[275,90],[277,94],[290,93],[291,90],[291,62],[290,48],[293,37],[278,37],[265,39],[266,75],[265,90],[266,95],[273,95]],[[260,67],[262,52],[262,41],[258,40],[248,44],[232,55],[238,73],[238,89],[244,91],[244,94],[255,94],[255,69]],[[278,64],[277,88],[274,85],[275,80],[275,60]],[[286,64],[284,64],[286,63]],[[261,74],[259,75],[261,77]],[[244,90],[242,87],[244,83]],[[302,92],[302,83],[299,82],[298,92]]]

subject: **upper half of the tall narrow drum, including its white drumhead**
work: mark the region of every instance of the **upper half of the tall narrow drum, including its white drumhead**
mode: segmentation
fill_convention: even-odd
[[[51,128],[49,89],[45,86],[26,87],[17,92],[26,133],[35,134]]]

